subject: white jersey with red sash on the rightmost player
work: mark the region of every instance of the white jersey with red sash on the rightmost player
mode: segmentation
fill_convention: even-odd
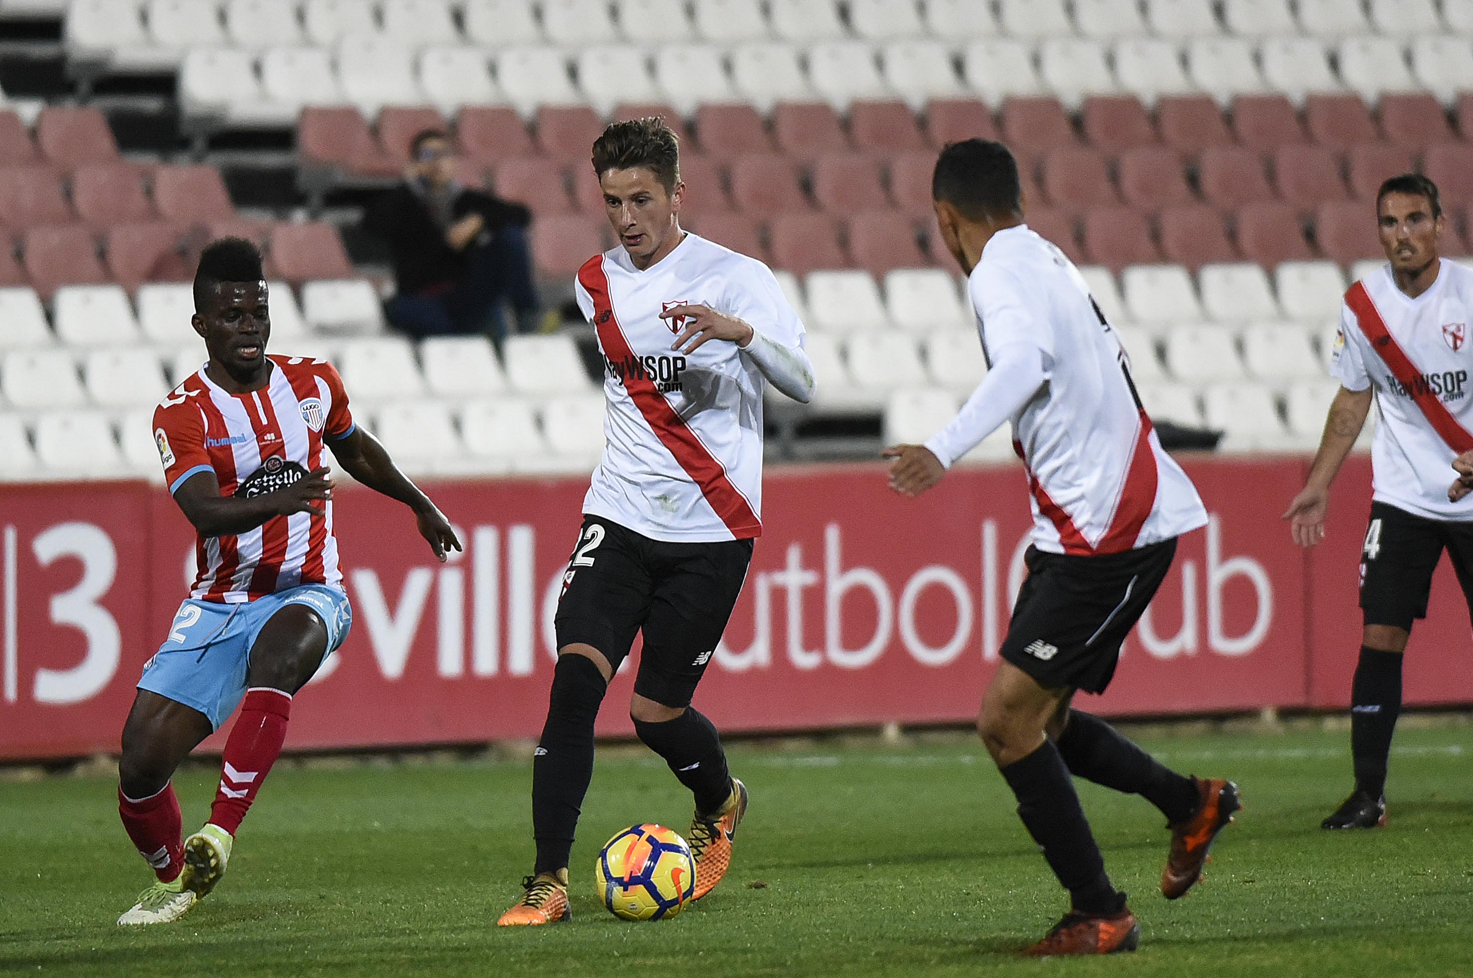
[[[1395,351],[1379,348],[1361,328],[1355,311],[1340,306],[1340,331],[1335,339],[1330,373],[1346,390],[1376,389],[1380,424],[1371,437],[1373,498],[1433,520],[1473,520],[1473,496],[1448,502],[1448,486],[1457,479],[1457,452],[1438,433],[1427,411],[1446,415],[1473,432],[1473,398],[1469,396],[1469,367],[1473,365],[1473,270],[1442,259],[1438,280],[1411,299],[1392,278],[1391,265],[1360,280],[1392,345],[1416,373],[1404,384],[1383,356]],[[1355,290],[1346,293],[1349,298]],[[1388,345],[1391,346],[1391,345]],[[1418,398],[1430,404],[1420,405]],[[1436,405],[1441,405],[1438,408]]]

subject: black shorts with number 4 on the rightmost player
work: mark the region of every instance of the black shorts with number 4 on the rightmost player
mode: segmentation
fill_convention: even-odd
[[[1458,574],[1473,616],[1473,523],[1429,520],[1389,502],[1371,502],[1370,524],[1361,545],[1361,610],[1365,625],[1411,630],[1427,617],[1432,571],[1444,548]]]

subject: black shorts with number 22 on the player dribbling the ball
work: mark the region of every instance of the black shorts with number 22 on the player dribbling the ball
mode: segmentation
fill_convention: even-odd
[[[747,580],[751,551],[750,539],[669,543],[585,516],[563,577],[557,645],[592,645],[619,669],[642,629],[635,692],[689,706]]]

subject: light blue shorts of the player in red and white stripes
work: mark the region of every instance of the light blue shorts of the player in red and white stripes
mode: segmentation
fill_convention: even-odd
[[[305,604],[323,619],[327,652],[348,638],[354,610],[346,594],[327,585],[302,585],[240,604],[190,598],[174,616],[164,645],[143,664],[138,689],[199,710],[218,731],[246,695],[250,647],[271,616],[289,604]]]

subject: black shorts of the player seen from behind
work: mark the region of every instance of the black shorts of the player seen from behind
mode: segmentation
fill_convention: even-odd
[[[1105,692],[1175,552],[1175,539],[1094,557],[1030,546],[1002,657],[1046,689]]]

